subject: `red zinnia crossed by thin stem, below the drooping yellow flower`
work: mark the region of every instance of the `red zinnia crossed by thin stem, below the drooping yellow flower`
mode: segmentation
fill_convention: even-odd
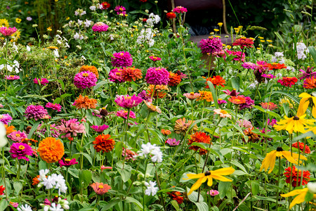
[[[298,186],[300,186],[301,185],[301,174],[302,174],[302,171],[297,170],[295,166],[293,166],[293,170],[291,169],[291,167],[288,167],[287,169],[285,169],[285,172],[284,172],[284,176],[287,177],[285,182],[291,184],[293,187],[296,187],[296,184],[298,181]],[[305,186],[305,184],[308,184],[308,181],[310,181],[310,172],[303,171],[302,185]]]

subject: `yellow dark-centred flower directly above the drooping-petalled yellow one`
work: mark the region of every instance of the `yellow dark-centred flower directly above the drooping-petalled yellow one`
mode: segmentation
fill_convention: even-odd
[[[281,120],[277,122],[277,124],[273,125],[275,129],[277,130],[282,130],[285,129],[289,134],[292,134],[294,132],[301,132],[302,134],[305,134],[306,130],[305,127],[308,126],[309,124],[313,124],[315,120],[306,120],[305,114],[302,115],[301,113],[298,113],[294,117],[287,117],[284,115],[285,120]]]

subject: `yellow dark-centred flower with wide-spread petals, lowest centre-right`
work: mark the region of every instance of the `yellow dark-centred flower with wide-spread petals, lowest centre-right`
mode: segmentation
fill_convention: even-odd
[[[197,179],[199,178],[195,184],[192,185],[192,187],[190,188],[189,193],[187,193],[187,195],[190,195],[193,191],[197,190],[197,188],[199,188],[199,186],[202,185],[202,183],[204,183],[207,179],[209,179],[209,181],[207,181],[207,185],[208,186],[212,186],[213,185],[213,179],[217,179],[219,181],[232,181],[231,179],[228,179],[226,177],[223,177],[223,175],[229,175],[234,173],[235,170],[232,167],[228,167],[228,168],[223,168],[220,170],[215,170],[215,171],[206,171],[205,173],[201,173],[201,174],[187,174],[188,178],[183,178],[183,179]]]

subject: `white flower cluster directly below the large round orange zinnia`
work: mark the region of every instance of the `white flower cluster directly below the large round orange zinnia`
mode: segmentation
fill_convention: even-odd
[[[61,174],[51,174],[46,178],[49,170],[39,170],[39,184],[38,186],[45,186],[46,189],[55,188],[60,192],[66,193],[67,186],[64,177]]]

